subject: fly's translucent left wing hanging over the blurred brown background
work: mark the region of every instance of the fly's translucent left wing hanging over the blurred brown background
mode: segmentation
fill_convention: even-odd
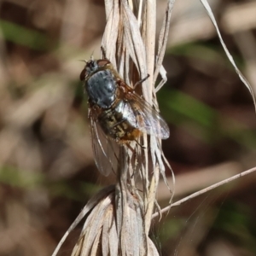
[[[108,176],[111,171],[117,170],[119,145],[104,134],[91,109],[89,119],[91,145],[96,166],[104,176]]]

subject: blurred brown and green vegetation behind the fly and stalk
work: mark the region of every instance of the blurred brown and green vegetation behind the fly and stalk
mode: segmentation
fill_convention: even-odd
[[[224,55],[200,1],[176,1],[158,93],[175,201],[256,162],[252,98]],[[209,1],[224,41],[256,90],[256,2]],[[157,27],[166,1],[157,1]],[[0,255],[50,255],[101,177],[90,147],[79,73],[97,58],[103,1],[0,2]],[[171,173],[167,173],[171,180]],[[256,175],[154,220],[160,255],[256,255]],[[170,194],[160,184],[160,206]],[[81,228],[81,225],[80,225]],[[70,255],[79,230],[60,255]]]

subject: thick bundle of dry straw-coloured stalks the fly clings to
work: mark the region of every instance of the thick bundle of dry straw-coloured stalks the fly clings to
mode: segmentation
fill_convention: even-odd
[[[119,75],[131,87],[148,76],[138,93],[154,108],[155,80],[166,48],[173,1],[168,2],[155,55],[156,1],[105,0],[107,24],[102,49]],[[143,145],[140,146],[140,145]],[[139,142],[119,146],[119,169],[115,186],[92,198],[63,236],[61,243],[87,218],[73,256],[82,255],[159,255],[149,239],[156,191],[165,165],[160,139],[143,135]],[[171,196],[171,195],[170,195]]]

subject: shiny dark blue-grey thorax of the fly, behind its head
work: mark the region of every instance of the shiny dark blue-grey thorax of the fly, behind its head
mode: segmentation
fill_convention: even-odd
[[[117,84],[110,70],[98,71],[85,80],[89,102],[100,108],[111,108],[116,99]]]

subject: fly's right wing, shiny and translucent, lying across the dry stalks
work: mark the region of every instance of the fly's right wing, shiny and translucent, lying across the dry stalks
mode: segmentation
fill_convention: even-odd
[[[161,139],[166,139],[170,136],[170,130],[166,121],[148,102],[138,96],[134,91],[128,92],[126,97],[127,102],[130,103],[131,109],[136,116],[136,122],[132,124],[135,128]]]

